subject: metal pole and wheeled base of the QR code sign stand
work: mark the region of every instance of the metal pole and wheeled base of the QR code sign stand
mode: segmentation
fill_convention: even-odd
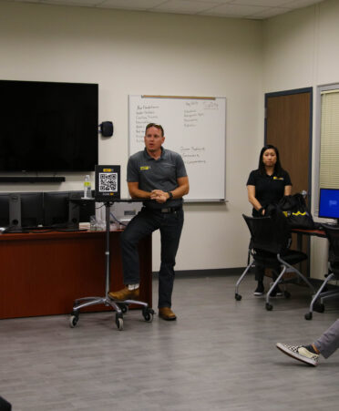
[[[118,201],[118,199],[117,199]],[[84,297],[78,298],[73,305],[73,310],[69,318],[69,325],[71,328],[74,328],[77,325],[79,319],[79,310],[81,308],[89,307],[91,305],[97,304],[104,304],[106,306],[110,306],[116,311],[116,324],[118,330],[123,330],[124,328],[124,320],[123,314],[128,312],[128,305],[129,304],[136,304],[141,305],[142,307],[142,315],[147,323],[151,323],[153,321],[154,311],[149,308],[148,303],[143,303],[141,301],[136,300],[113,300],[108,296],[109,293],[109,207],[111,206],[112,202],[105,202],[106,207],[106,260],[105,260],[105,268],[106,268],[106,291],[104,297]]]

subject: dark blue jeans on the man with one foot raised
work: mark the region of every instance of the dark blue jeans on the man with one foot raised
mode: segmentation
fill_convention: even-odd
[[[143,207],[121,235],[122,266],[125,284],[139,283],[138,243],[153,231],[161,237],[158,307],[170,307],[174,283],[174,265],[183,225],[182,208],[170,213]]]

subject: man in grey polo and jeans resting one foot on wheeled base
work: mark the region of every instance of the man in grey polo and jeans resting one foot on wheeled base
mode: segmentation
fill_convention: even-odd
[[[122,265],[126,287],[108,293],[115,300],[138,299],[139,253],[141,238],[158,230],[161,236],[159,270],[159,316],[176,320],[171,311],[175,257],[183,225],[182,197],[190,190],[185,165],[178,153],[164,149],[163,128],[154,123],[146,127],[145,149],[128,159],[128,190],[132,199],[147,199],[139,214],[121,235]]]

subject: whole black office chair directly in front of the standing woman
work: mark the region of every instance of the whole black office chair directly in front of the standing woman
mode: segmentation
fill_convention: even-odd
[[[290,245],[290,228],[288,226],[285,217],[280,213],[276,213],[270,217],[248,217],[242,214],[242,217],[246,221],[246,224],[251,232],[250,242],[250,254],[252,261],[249,262],[245,271],[242,272],[241,277],[235,285],[235,299],[241,300],[241,295],[238,293],[239,285],[247,272],[250,271],[255,263],[258,263],[265,268],[272,268],[273,270],[277,265],[282,268],[281,272],[277,272],[278,276],[273,282],[269,292],[266,294],[265,307],[267,311],[272,310],[272,304],[270,303],[270,295],[278,283],[294,283],[293,279],[282,280],[283,274],[288,269],[290,272],[294,272],[296,276],[301,277],[310,289],[312,293],[315,293],[313,285],[293,267],[294,264],[303,262],[307,259],[307,255],[304,252],[297,252],[289,249]],[[289,298],[290,293],[285,291],[284,296]]]

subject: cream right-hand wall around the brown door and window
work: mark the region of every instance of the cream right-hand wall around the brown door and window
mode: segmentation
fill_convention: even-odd
[[[327,0],[264,23],[264,92],[313,87],[313,194],[318,164],[317,88],[339,82],[339,2]],[[316,209],[313,195],[313,212]],[[324,278],[327,241],[312,240],[311,275]]]

